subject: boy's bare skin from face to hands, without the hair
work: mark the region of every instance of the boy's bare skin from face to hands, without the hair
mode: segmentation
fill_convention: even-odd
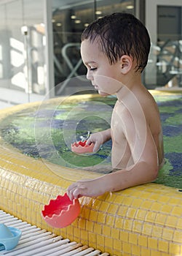
[[[136,69],[138,60],[135,53],[121,54],[111,63],[100,45],[100,38],[100,35],[93,40],[82,38],[81,55],[87,67],[87,79],[101,96],[116,94],[117,102],[112,113],[111,129],[90,135],[87,144],[95,143],[94,151],[98,151],[103,143],[111,139],[111,163],[116,171],[71,184],[67,191],[71,200],[154,181],[164,160],[159,110],[141,82],[141,71],[146,64]]]

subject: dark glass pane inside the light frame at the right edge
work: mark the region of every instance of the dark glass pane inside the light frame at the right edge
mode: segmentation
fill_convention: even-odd
[[[157,85],[182,86],[182,7],[157,6]]]

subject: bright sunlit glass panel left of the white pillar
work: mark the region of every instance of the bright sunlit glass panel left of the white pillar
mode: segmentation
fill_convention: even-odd
[[[15,99],[14,90],[18,95],[45,91],[43,1],[0,4],[0,89],[11,90],[4,93],[4,101],[7,97],[16,104],[20,101]]]

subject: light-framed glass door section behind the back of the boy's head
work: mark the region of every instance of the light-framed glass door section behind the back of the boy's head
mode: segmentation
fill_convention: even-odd
[[[149,89],[181,90],[181,1],[146,0],[146,27],[151,36],[151,53],[143,74],[145,86]]]

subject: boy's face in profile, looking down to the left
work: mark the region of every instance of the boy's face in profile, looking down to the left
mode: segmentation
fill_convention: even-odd
[[[109,64],[107,56],[100,50],[99,43],[85,39],[81,44],[81,56],[87,67],[87,79],[99,94],[115,94],[122,88],[122,73],[119,61]]]

